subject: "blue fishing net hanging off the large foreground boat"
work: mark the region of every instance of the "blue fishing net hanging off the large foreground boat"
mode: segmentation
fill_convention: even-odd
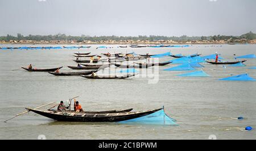
[[[155,125],[177,125],[176,120],[168,117],[166,113],[164,113],[164,109],[159,110],[150,115],[146,115],[144,117],[124,120],[118,123],[122,124],[155,124]]]

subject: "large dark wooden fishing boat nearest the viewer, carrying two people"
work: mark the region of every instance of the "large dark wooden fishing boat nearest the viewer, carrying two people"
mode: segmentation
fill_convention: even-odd
[[[137,111],[137,112],[124,112],[124,113],[70,113],[65,111],[51,111],[51,110],[37,110],[29,109],[36,114],[42,115],[47,118],[55,119],[64,122],[120,122],[123,120],[129,120],[146,115],[153,114],[161,109],[154,109],[148,111]]]

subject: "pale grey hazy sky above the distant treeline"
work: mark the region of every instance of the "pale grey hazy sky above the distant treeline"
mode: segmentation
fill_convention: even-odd
[[[255,0],[0,0],[0,36],[240,36],[256,32]]]

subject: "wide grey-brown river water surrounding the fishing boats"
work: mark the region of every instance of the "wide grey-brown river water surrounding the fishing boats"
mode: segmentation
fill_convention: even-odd
[[[0,45],[5,46],[11,45]],[[108,45],[113,48],[96,49],[97,46],[80,50],[0,50],[0,139],[38,139],[39,135],[46,139],[208,139],[210,135],[217,139],[256,139],[255,130],[244,131],[246,126],[256,128],[256,82],[218,81],[246,72],[256,78],[256,70],[248,69],[256,66],[256,59],[247,59],[246,67],[201,63],[210,77],[179,77],[176,75],[184,72],[163,71],[176,66],[169,64],[156,69],[159,72],[154,74],[158,79],[155,83],[150,82],[151,77],[139,75],[129,79],[92,80],[19,69],[31,63],[37,68],[63,66],[60,71],[72,71],[67,66],[77,65],[72,61],[72,55],[77,51],[92,54],[171,51],[183,55],[209,55],[217,51],[226,61],[234,60],[234,54],[256,53],[256,45],[192,45],[187,48],[117,48],[117,45]],[[57,122],[34,113],[2,122],[26,111],[24,107],[37,107],[75,96],[80,96],[77,100],[85,110],[133,108],[138,111],[164,106],[166,114],[176,119],[179,126]],[[236,119],[241,116],[245,119]]]

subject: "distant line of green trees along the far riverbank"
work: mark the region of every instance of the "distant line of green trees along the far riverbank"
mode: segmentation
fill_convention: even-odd
[[[221,36],[215,35],[215,36],[180,36],[180,37],[167,37],[167,36],[137,36],[137,37],[131,37],[131,36],[66,36],[65,34],[56,34],[56,35],[48,35],[48,36],[41,36],[41,35],[28,35],[23,36],[22,34],[18,33],[17,36],[11,36],[10,34],[7,34],[7,36],[1,36],[0,41],[20,41],[20,40],[33,40],[33,41],[71,41],[76,40],[77,42],[82,41],[109,41],[109,40],[115,40],[115,41],[159,41],[159,40],[173,40],[173,41],[194,41],[194,40],[237,40],[245,38],[246,40],[254,40],[256,39],[256,34],[253,32],[249,32],[246,34],[242,34],[241,36]]]

